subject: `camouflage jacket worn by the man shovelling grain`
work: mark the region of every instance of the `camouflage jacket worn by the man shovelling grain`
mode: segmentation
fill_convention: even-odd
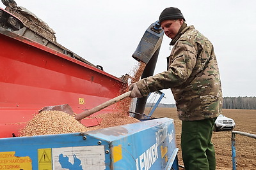
[[[193,25],[185,27],[179,36],[169,57],[168,71],[136,84],[143,96],[170,88],[180,120],[218,117],[222,92],[213,46]]]

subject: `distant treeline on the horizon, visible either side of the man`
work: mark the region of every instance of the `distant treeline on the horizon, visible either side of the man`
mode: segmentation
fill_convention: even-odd
[[[146,107],[154,107],[147,103]],[[176,108],[175,104],[159,103],[159,108]],[[256,97],[223,97],[223,109],[256,110]]]

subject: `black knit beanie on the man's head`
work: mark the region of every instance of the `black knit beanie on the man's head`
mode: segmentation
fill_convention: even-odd
[[[185,18],[183,17],[181,11],[178,8],[165,8],[159,16],[159,24],[161,24],[163,20],[175,20],[179,18],[182,18],[185,21]]]

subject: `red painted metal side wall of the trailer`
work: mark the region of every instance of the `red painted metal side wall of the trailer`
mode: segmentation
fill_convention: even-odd
[[[0,28],[0,138],[44,106],[69,104],[76,113],[120,95],[127,84],[93,66]],[[114,105],[115,106],[115,105]],[[98,113],[111,113],[109,106]]]

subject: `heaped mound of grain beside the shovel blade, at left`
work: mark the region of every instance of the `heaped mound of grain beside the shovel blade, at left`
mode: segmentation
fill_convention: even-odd
[[[74,117],[63,111],[42,111],[35,115],[20,136],[36,136],[45,134],[64,134],[72,132],[85,132],[87,128]]]

